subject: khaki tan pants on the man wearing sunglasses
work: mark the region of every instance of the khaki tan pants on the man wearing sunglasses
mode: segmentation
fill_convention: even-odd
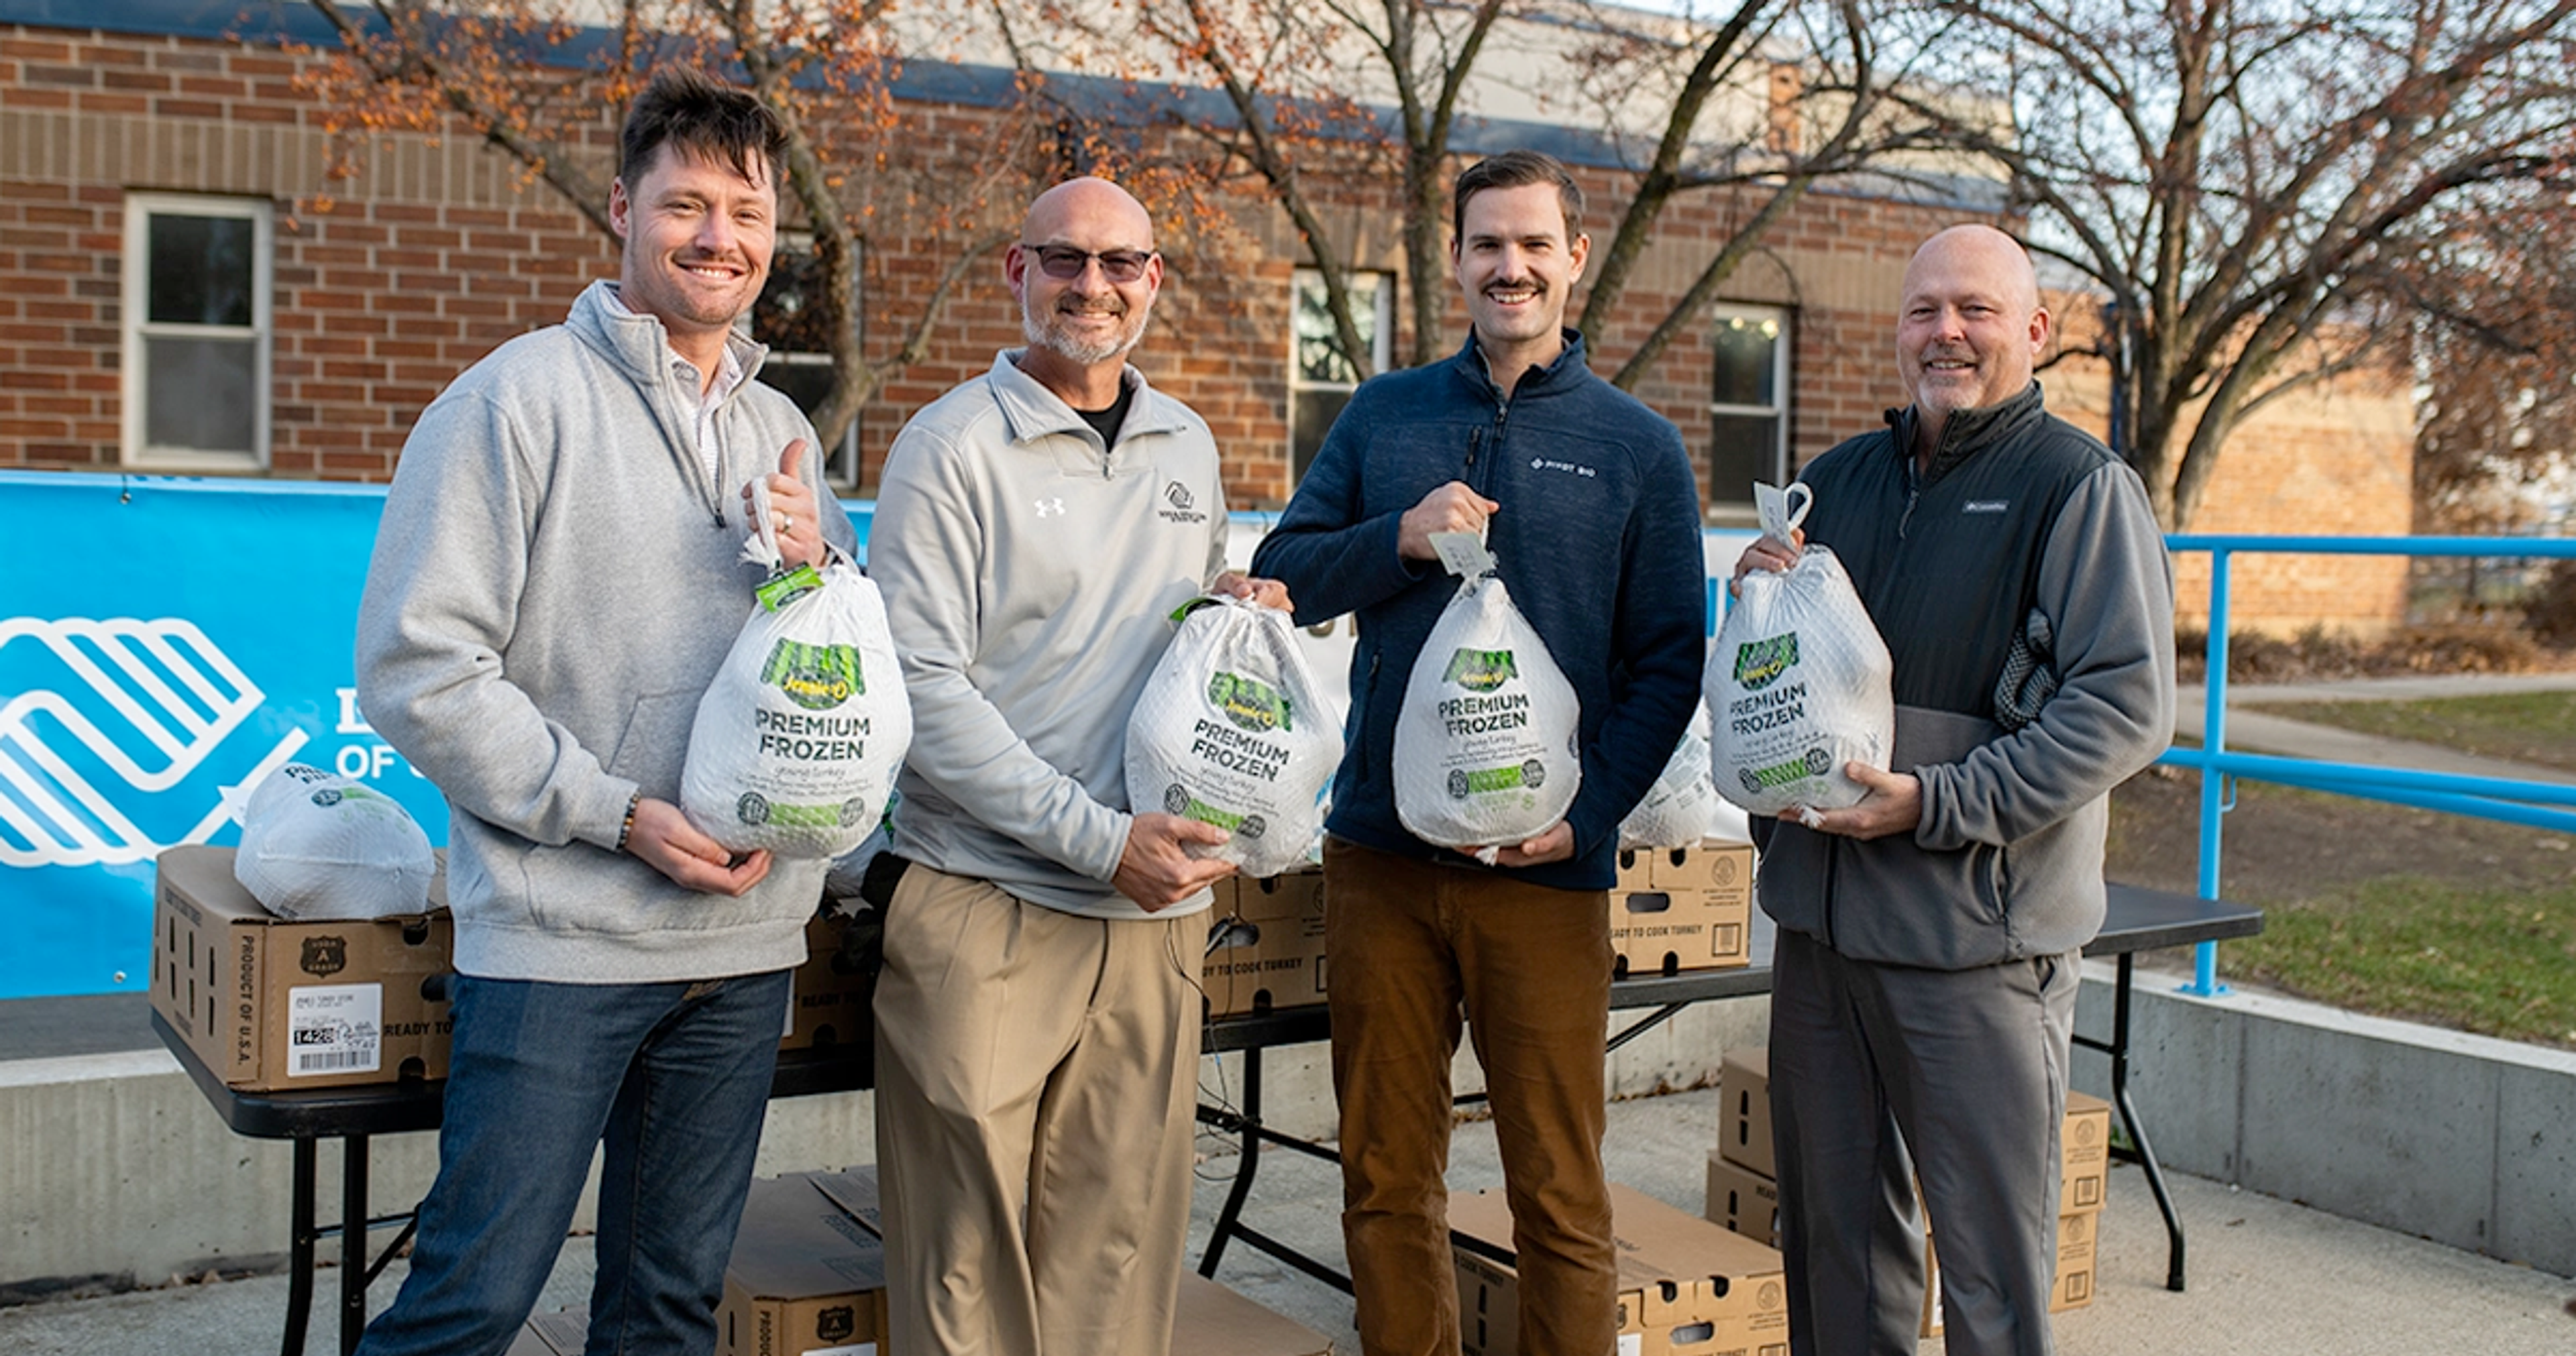
[[[891,1351],[1170,1351],[1206,931],[904,872],[876,980]]]

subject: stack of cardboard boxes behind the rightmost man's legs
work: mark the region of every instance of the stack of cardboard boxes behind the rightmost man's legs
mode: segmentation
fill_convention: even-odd
[[[1765,1050],[1728,1050],[1718,1068],[1718,1148],[1708,1153],[1708,1220],[1744,1238],[1780,1245],[1780,1186],[1772,1160],[1770,1060]],[[2058,1130],[2058,1276],[2048,1310],[2081,1310],[2094,1297],[2094,1235],[2110,1186],[2110,1101],[2066,1094]],[[1942,1330],[1940,1225],[1924,1220],[1922,1335]]]

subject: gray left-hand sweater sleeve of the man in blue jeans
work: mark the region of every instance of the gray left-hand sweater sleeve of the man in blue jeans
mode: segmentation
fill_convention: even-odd
[[[636,785],[502,674],[536,522],[518,445],[471,391],[412,425],[358,602],[358,705],[451,805],[538,844],[613,847]]]

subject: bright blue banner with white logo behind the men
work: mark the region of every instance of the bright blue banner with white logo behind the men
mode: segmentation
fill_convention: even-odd
[[[866,558],[873,502],[845,502]],[[358,710],[384,486],[0,471],[0,998],[139,993],[152,859],[234,844],[227,795],[307,762],[448,811]],[[1270,515],[1231,515],[1242,566]],[[1710,530],[1726,579],[1752,533]],[[1342,700],[1350,625],[1301,630]]]

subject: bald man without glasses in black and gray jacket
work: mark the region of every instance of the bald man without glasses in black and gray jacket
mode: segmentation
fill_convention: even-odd
[[[2146,486],[2040,409],[2030,257],[1991,226],[1906,268],[1911,407],[1824,453],[1832,545],[1896,659],[1891,772],[1852,808],[1757,818],[1780,924],[1772,1142],[1790,1351],[1914,1351],[1940,1235],[1958,1356],[2045,1356],[2079,949],[2102,926],[2110,790],[2174,728],[2174,574]],[[1736,563],[1788,569],[1765,538]]]

